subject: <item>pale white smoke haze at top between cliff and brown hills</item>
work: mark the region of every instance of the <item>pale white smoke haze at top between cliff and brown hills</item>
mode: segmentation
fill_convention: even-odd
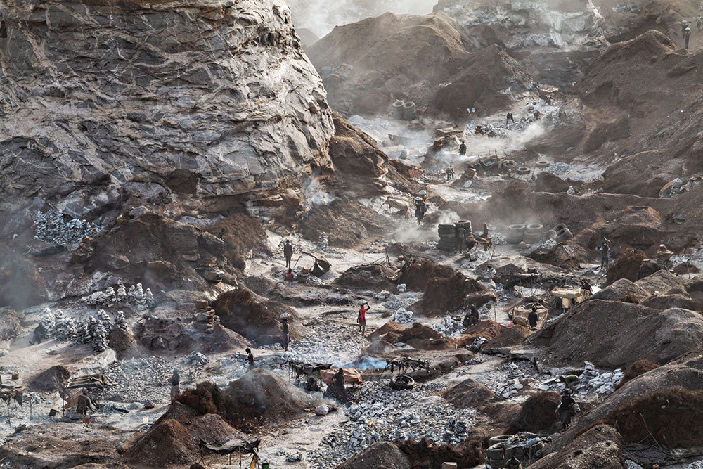
[[[356,23],[383,13],[426,15],[437,0],[288,0],[296,28],[323,37],[335,26]]]

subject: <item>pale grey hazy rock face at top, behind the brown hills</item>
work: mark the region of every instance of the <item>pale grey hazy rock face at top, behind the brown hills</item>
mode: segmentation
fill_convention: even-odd
[[[605,47],[592,0],[439,0],[476,46],[508,48],[542,82],[565,85]]]

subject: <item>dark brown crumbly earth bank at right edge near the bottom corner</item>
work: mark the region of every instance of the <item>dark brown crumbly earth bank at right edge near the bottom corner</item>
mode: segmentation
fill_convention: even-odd
[[[621,402],[605,419],[616,427],[625,444],[650,436],[670,448],[690,448],[703,441],[703,391],[669,387]]]

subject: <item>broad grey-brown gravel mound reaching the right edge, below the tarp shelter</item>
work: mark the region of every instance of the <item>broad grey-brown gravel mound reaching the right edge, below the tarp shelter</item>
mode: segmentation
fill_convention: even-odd
[[[604,331],[608,331],[604,333]],[[703,316],[640,304],[589,300],[528,340],[545,362],[620,368],[638,359],[665,364],[703,347]]]

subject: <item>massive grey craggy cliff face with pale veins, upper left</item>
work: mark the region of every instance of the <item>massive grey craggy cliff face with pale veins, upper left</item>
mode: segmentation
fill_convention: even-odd
[[[281,0],[10,0],[0,19],[0,210],[82,217],[130,181],[221,209],[328,164],[331,111]]]

